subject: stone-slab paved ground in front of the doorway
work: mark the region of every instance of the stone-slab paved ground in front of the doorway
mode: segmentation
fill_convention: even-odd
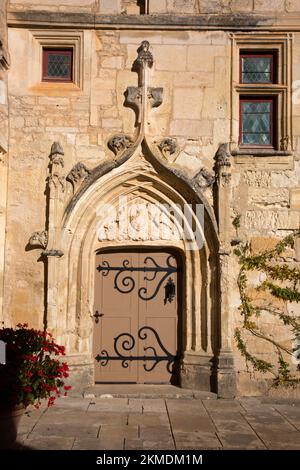
[[[18,448],[300,449],[299,401],[64,398],[26,412]]]

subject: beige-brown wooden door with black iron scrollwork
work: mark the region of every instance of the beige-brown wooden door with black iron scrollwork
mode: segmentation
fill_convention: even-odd
[[[179,278],[168,251],[96,255],[96,382],[174,381]]]

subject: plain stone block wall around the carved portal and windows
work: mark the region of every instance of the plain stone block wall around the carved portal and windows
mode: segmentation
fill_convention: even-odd
[[[10,7],[89,10],[103,14],[121,13],[122,9],[128,14],[138,14],[140,8],[137,2],[125,0],[11,0]],[[300,2],[149,1],[150,13],[210,14],[216,11],[230,13],[232,9],[266,14],[270,10],[297,13]],[[189,178],[203,167],[212,173],[219,145],[231,140],[230,32],[163,31],[161,28],[105,30],[102,27],[82,28],[80,34],[79,82],[76,85],[49,85],[40,82],[40,33],[36,28],[31,31],[30,28],[11,27],[9,30],[10,168],[4,308],[7,323],[26,320],[33,326],[43,325],[44,265],[38,262],[42,250],[32,250],[28,240],[34,231],[44,230],[46,225],[45,185],[51,145],[54,141],[62,144],[66,173],[77,162],[84,162],[91,169],[101,162],[114,160],[107,145],[109,139],[121,132],[133,136],[135,129],[135,114],[124,106],[124,92],[128,86],[138,84],[132,64],[141,41],[150,42],[154,56],[151,86],[163,87],[163,103],[153,109],[149,135],[154,140],[172,137],[179,148],[168,163]],[[294,34],[291,54],[293,79],[300,80],[299,32]],[[231,222],[238,214],[242,215],[238,236],[244,241],[252,241],[257,249],[268,247],[274,239],[299,228],[300,106],[297,101],[292,105],[292,124],[290,154],[231,157],[229,241],[236,237]],[[212,204],[209,191],[207,199]],[[300,260],[297,247],[287,258],[296,265]],[[231,332],[240,323],[237,274],[237,261],[231,251],[226,280]],[[253,283],[255,285],[255,279]],[[268,317],[263,319],[263,327],[281,334],[280,327]],[[80,341],[75,338],[76,342]],[[271,347],[261,349],[261,343],[250,338],[248,342],[254,353],[275,358]],[[248,394],[261,391],[264,383],[261,382],[259,387],[259,382],[255,385],[237,351],[235,363],[239,370],[239,391]]]

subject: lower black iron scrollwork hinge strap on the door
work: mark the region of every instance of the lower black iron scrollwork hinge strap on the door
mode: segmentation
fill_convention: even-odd
[[[121,333],[116,338],[114,338],[114,352],[115,356],[110,356],[108,351],[103,349],[100,354],[96,356],[96,360],[100,362],[100,365],[105,367],[110,361],[121,361],[122,367],[127,369],[129,363],[132,361],[144,361],[143,364],[144,370],[146,372],[151,372],[157,364],[160,362],[166,361],[166,368],[167,371],[171,374],[172,373],[172,366],[178,356],[171,354],[165,346],[162,344],[161,339],[157,333],[151,326],[143,326],[138,331],[138,337],[141,340],[148,339],[148,333],[152,332],[158,342],[160,349],[163,351],[164,354],[158,354],[157,350],[153,346],[145,346],[144,347],[144,356],[132,356],[126,355],[126,352],[130,352],[134,349],[136,341],[134,337],[130,333]],[[150,353],[150,354],[147,354]]]

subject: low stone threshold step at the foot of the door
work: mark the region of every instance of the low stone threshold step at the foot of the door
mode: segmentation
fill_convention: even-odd
[[[71,394],[69,394],[71,395]],[[184,398],[216,399],[212,392],[189,390],[176,385],[155,384],[95,384],[82,391],[84,398]]]

